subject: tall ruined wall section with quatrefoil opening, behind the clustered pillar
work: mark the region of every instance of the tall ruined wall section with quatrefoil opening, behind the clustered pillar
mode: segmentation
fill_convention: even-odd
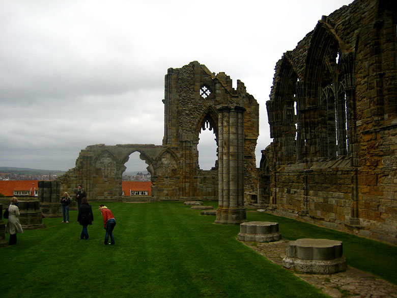
[[[205,186],[201,184],[205,179],[200,178],[199,174],[197,144],[201,129],[207,126],[214,131],[216,140],[218,139],[217,109],[222,106],[245,108],[245,192],[258,193],[254,151],[259,135],[259,105],[246,92],[240,80],[237,80],[237,89],[234,89],[232,79],[224,72],[215,75],[206,66],[194,61],[182,68],[168,69],[163,102],[163,146],[172,148],[180,159],[179,186],[182,198],[201,198],[203,194],[211,193],[212,198],[217,199],[217,184],[213,180]]]

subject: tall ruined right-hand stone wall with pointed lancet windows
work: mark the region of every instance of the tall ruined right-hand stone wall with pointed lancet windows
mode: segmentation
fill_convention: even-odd
[[[357,0],[276,64],[274,212],[397,243],[396,24],[394,2]]]

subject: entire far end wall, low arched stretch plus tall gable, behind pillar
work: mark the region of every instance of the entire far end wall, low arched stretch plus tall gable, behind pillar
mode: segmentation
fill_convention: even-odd
[[[219,109],[226,107],[241,111],[243,117],[239,120],[239,168],[238,171],[233,168],[231,173],[240,175],[239,212],[245,218],[244,189],[247,197],[258,194],[254,155],[259,134],[257,101],[239,80],[237,89],[234,89],[232,80],[223,72],[215,75],[204,65],[191,62],[182,68],[168,69],[163,103],[164,138],[161,146],[88,146],[80,152],[76,167],[60,178],[62,192],[74,194],[80,183],[91,200],[119,200],[124,164],[131,153],[138,151],[151,173],[153,200],[217,200],[218,165],[216,163],[209,171],[201,170],[197,144],[201,129],[211,129],[217,144],[218,131],[223,131],[223,127],[229,131],[228,125],[219,122]],[[231,148],[236,150],[234,145]],[[225,158],[234,160],[229,156]],[[225,187],[229,186],[225,184]]]

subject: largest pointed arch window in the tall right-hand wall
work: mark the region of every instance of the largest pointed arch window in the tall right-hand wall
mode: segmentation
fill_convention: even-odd
[[[303,131],[298,134],[304,136],[304,141],[298,142],[298,151],[304,152],[305,160],[347,154],[346,95],[342,90],[345,75],[341,63],[345,53],[346,45],[332,22],[323,17],[310,39],[304,75],[306,102],[299,106],[302,113],[298,121]]]

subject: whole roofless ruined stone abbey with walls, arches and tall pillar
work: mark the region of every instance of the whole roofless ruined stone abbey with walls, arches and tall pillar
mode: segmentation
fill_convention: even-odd
[[[120,200],[124,164],[138,151],[153,201],[218,200],[220,224],[265,208],[397,244],[395,2],[356,0],[313,25],[275,66],[266,102],[273,141],[259,168],[257,100],[240,80],[235,89],[194,61],[165,75],[162,145],[88,146],[59,191],[80,183],[90,200]],[[218,147],[208,171],[198,166],[201,129]]]

